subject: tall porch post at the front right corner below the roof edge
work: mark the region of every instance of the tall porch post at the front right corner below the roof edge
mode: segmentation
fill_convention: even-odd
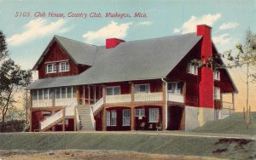
[[[166,130],[167,127],[167,99],[166,99],[166,83],[162,81],[162,92],[163,92],[163,105],[162,105],[162,129]]]

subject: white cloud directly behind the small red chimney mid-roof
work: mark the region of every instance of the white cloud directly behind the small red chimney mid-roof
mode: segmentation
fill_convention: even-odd
[[[111,21],[107,26],[98,31],[87,31],[83,34],[86,43],[103,43],[109,37],[123,38],[126,37],[132,22],[120,23]]]

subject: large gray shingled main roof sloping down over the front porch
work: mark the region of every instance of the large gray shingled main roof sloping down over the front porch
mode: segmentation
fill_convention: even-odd
[[[68,39],[64,39],[62,45],[68,48]],[[88,70],[78,76],[38,79],[29,89],[166,77],[200,40],[195,33],[189,33],[119,43],[113,49],[96,47],[94,64]],[[67,50],[72,52],[72,49]],[[86,58],[81,56],[81,59]]]

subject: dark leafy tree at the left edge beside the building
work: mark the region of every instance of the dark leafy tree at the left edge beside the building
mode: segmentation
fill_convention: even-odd
[[[31,82],[32,71],[22,70],[14,60],[8,58],[5,36],[2,31],[0,31],[0,36],[0,60],[3,60],[0,66],[0,111],[2,113],[1,131],[3,132],[5,116],[15,102],[14,96]]]

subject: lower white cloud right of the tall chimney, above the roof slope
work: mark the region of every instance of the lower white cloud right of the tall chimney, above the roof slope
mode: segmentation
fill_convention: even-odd
[[[228,33],[224,33],[217,37],[212,37],[212,41],[213,41],[213,43],[216,44],[216,46],[220,52],[228,50],[231,45],[231,37],[230,37],[230,34],[228,34]]]

